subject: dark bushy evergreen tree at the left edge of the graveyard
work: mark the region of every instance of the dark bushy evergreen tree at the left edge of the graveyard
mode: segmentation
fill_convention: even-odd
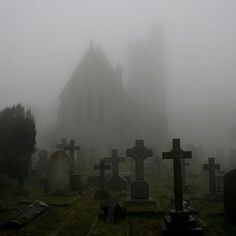
[[[20,104],[0,111],[1,169],[20,187],[28,176],[30,156],[35,150],[35,121],[29,110]]]

